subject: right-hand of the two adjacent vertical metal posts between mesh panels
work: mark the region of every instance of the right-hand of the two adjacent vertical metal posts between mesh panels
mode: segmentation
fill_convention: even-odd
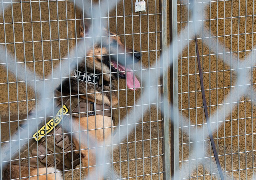
[[[172,179],[179,179],[179,114],[178,114],[178,50],[177,50],[177,1],[169,1],[170,28],[170,98],[171,103],[171,172]]]

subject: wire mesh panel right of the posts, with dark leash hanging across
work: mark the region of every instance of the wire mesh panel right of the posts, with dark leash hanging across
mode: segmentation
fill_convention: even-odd
[[[179,179],[218,179],[203,112],[192,13],[189,1],[177,2],[176,172]],[[207,107],[224,178],[254,179],[255,1],[196,0],[195,6]]]

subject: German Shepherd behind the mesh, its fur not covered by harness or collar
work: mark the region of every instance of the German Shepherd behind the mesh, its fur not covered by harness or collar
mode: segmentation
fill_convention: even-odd
[[[84,39],[91,37],[89,31],[90,26],[91,21],[88,19],[80,20],[80,36]],[[70,78],[70,80],[66,79],[62,82],[62,93],[63,95],[69,95],[71,91],[71,94],[78,94],[79,86],[79,94],[87,93],[87,95],[80,95],[80,98],[87,99],[88,102],[95,102],[96,104],[104,103],[104,105],[115,106],[118,103],[118,96],[117,91],[110,92],[110,90],[116,90],[114,83],[110,83],[110,81],[117,80],[117,77],[123,79],[126,78],[127,88],[133,90],[139,88],[140,83],[128,65],[138,62],[141,59],[141,54],[140,52],[126,47],[122,43],[121,38],[115,33],[109,32],[106,29],[101,30],[101,41],[95,41],[95,43],[89,41],[89,43],[87,42],[87,46],[84,47],[86,48],[86,56],[89,57],[86,58],[86,61],[78,63],[78,70],[86,70],[89,73],[103,73],[103,89],[102,86],[95,86],[94,84],[86,83],[84,81],[77,81],[77,79],[73,77]],[[71,86],[69,84],[71,84]],[[110,84],[112,87],[110,87]],[[102,93],[103,91],[104,93]],[[92,179],[96,179],[97,177],[95,171],[96,142],[98,146],[98,143],[103,143],[105,139],[109,139],[111,136],[112,124],[112,119],[108,116],[103,117],[101,115],[96,115],[96,118],[95,116],[88,116],[88,118],[72,116],[72,132],[81,131],[80,133],[73,133],[72,141],[75,144],[75,150],[82,149],[80,157],[82,166],[89,167],[84,168],[85,175],[87,176],[89,173],[88,177]],[[89,133],[86,131],[87,128],[90,130],[88,131]],[[89,146],[87,140],[88,134],[89,138],[95,141],[93,143],[90,142]],[[76,152],[79,153],[79,151]],[[46,168],[37,169],[31,167],[29,174],[28,167],[13,164],[11,165],[11,178],[20,178],[19,169],[21,169],[21,178],[30,175],[34,176],[30,178],[31,180],[34,180],[37,179],[38,174],[39,180],[44,180],[46,178],[48,180],[54,180],[55,177],[57,180],[63,179],[61,172],[54,173],[54,167],[48,167],[47,170]],[[58,171],[58,169],[56,169],[56,171]],[[10,165],[7,165],[4,168],[2,177],[4,180],[10,179]]]

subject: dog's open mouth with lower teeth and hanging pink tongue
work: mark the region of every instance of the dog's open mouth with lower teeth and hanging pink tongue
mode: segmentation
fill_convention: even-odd
[[[111,60],[110,65],[111,65],[112,72],[119,71],[118,75],[120,78],[126,77],[126,84],[127,84],[128,88],[134,89],[134,88],[140,87],[139,80],[133,74],[133,71],[130,67],[126,66],[126,72],[125,72],[125,66],[121,65],[120,63],[118,63],[118,65],[117,65],[116,61]],[[137,89],[135,89],[135,90],[137,90]]]

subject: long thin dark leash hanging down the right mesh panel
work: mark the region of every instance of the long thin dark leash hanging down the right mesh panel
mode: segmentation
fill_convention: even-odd
[[[209,137],[211,141],[211,146],[212,146],[212,151],[214,154],[215,162],[221,177],[221,180],[224,180],[224,176],[221,170],[221,165],[218,157],[218,153],[216,151],[215,143],[213,140],[213,135],[212,135],[212,129],[211,129],[211,122],[209,119],[209,114],[207,110],[207,103],[206,103],[206,98],[205,98],[205,91],[204,91],[204,85],[203,85],[203,73],[202,73],[202,68],[201,68],[201,63],[199,59],[199,50],[198,50],[198,43],[197,43],[197,33],[196,33],[196,20],[195,20],[195,14],[193,12],[195,11],[195,1],[190,0],[190,8],[192,9],[192,17],[193,17],[193,24],[194,24],[194,31],[195,31],[195,43],[196,43],[196,53],[197,53],[197,64],[198,64],[198,71],[199,71],[199,79],[200,79],[200,86],[201,86],[201,93],[202,93],[202,99],[203,99],[203,109],[204,109],[204,114],[207,122],[207,128],[209,132]]]

